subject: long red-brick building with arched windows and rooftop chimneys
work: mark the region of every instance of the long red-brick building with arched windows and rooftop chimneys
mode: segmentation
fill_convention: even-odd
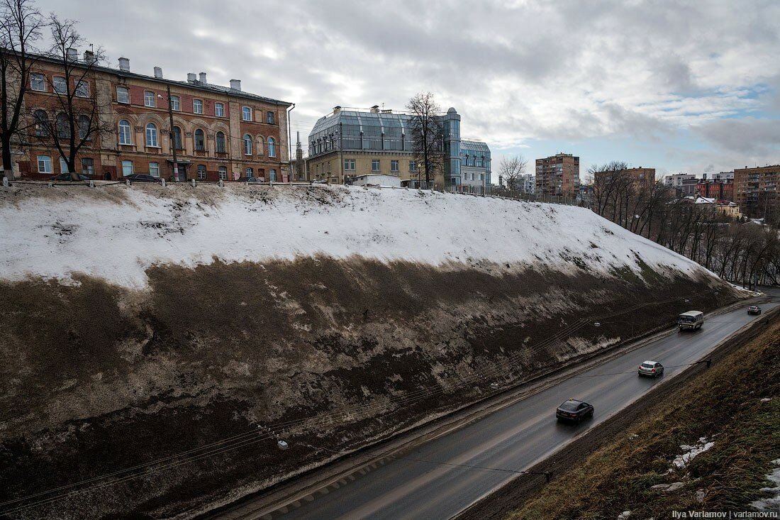
[[[91,53],[83,60],[72,53],[69,60],[86,69]],[[52,107],[64,82],[61,62],[38,59],[25,97],[27,123],[56,120]],[[289,180],[289,102],[244,92],[240,80],[230,80],[229,87],[209,84],[206,73],[179,81],[163,77],[159,67],[152,76],[131,72],[126,58],[119,59],[119,69],[94,66],[83,83],[81,97],[101,102],[101,122],[113,129],[96,136],[76,159],[76,169],[90,178],[115,180],[131,173],[172,178],[169,87],[179,180]],[[48,179],[64,173],[67,163],[48,134],[37,131],[37,138],[16,151],[18,175]]]

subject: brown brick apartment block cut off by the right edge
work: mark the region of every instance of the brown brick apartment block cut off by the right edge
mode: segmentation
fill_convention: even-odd
[[[780,165],[735,169],[735,197],[743,214],[753,218],[778,215],[778,180]]]

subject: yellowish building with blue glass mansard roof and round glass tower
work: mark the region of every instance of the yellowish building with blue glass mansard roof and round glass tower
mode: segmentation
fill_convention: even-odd
[[[345,183],[356,176],[383,174],[399,176],[407,183],[425,180],[413,151],[411,120],[409,114],[381,110],[378,106],[369,111],[335,107],[331,114],[317,120],[309,134],[309,179]],[[458,189],[463,186],[464,179],[461,174],[460,116],[456,109],[451,108],[441,116],[441,123],[445,159],[442,171],[434,175],[433,181],[439,187]],[[484,159],[481,159],[485,151],[488,160],[486,182],[489,183],[490,150],[486,144],[480,145],[478,150],[475,145],[469,148],[470,158],[475,159],[478,153],[483,165],[479,171],[473,166],[475,186],[481,186],[479,174],[485,175],[482,171]]]

